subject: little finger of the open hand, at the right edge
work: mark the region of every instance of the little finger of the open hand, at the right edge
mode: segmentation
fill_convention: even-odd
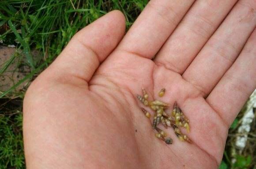
[[[206,101],[231,125],[256,88],[256,29],[241,54],[225,73]]]

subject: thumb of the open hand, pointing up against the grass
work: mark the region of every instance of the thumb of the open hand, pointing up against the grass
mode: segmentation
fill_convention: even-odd
[[[120,11],[112,11],[80,30],[50,65],[49,74],[54,72],[52,75],[60,78],[75,76],[88,82],[123,37],[124,21]]]

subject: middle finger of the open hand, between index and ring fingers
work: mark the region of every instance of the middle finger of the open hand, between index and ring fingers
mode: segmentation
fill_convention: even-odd
[[[197,0],[158,52],[154,62],[182,74],[236,1]]]

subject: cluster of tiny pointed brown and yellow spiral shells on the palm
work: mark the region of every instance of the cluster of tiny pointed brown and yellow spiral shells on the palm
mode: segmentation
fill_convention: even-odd
[[[161,89],[158,93],[159,97],[162,97],[165,94],[165,89]],[[167,134],[162,129],[158,128],[158,125],[162,123],[162,125],[167,129],[169,127],[173,127],[174,133],[181,141],[191,142],[187,135],[181,133],[179,127],[184,127],[187,129],[189,133],[189,120],[185,117],[184,113],[178,107],[177,103],[175,102],[173,105],[173,111],[171,115],[166,113],[166,109],[169,108],[169,104],[164,103],[162,101],[154,100],[148,101],[148,94],[147,91],[142,88],[143,96],[137,95],[137,98],[140,102],[142,102],[145,106],[151,108],[154,111],[154,119],[153,119],[153,129],[157,132],[155,136],[163,141],[166,144],[172,144],[173,140],[169,137],[166,137]],[[143,113],[150,119],[151,114],[144,108],[141,108]]]

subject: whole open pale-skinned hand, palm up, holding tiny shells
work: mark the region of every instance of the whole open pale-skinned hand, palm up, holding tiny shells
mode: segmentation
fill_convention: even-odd
[[[256,88],[256,1],[236,2],[151,0],[125,36],[119,11],[80,30],[27,90],[27,169],[217,169]],[[142,87],[166,88],[192,144],[154,137]]]

